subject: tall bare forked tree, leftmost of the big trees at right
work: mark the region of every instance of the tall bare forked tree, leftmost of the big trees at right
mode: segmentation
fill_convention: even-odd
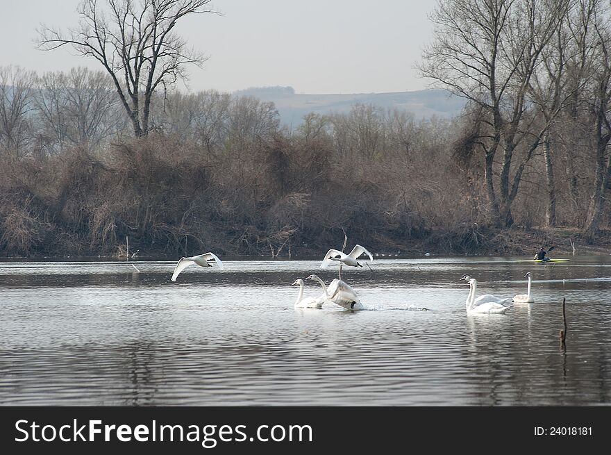
[[[522,172],[547,126],[533,132],[528,85],[569,0],[440,0],[435,38],[419,65],[422,76],[485,110],[485,180],[496,224],[510,226]],[[514,164],[522,144],[523,157]],[[499,188],[494,163],[501,154]]]

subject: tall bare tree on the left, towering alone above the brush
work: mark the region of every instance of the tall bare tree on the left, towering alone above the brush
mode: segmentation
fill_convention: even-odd
[[[43,50],[71,45],[106,69],[131,119],[136,136],[149,132],[153,93],[185,78],[185,65],[201,65],[206,58],[187,48],[174,33],[176,24],[194,13],[215,13],[211,0],[83,0],[78,6],[81,22],[68,33],[42,26]],[[101,2],[100,2],[101,3]]]

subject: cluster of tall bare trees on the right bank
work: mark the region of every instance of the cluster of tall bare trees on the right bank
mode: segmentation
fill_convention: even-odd
[[[419,68],[469,101],[455,157],[485,185],[488,219],[509,228],[543,217],[592,242],[608,223],[610,3],[442,0],[431,19]],[[525,199],[537,185],[544,206]]]

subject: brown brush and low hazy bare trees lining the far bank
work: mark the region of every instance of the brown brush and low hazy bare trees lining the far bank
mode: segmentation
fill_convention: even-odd
[[[417,121],[355,105],[307,115],[290,131],[253,97],[166,92],[151,104],[148,135],[133,138],[114,93],[86,69],[0,68],[1,256],[119,256],[128,242],[141,255],[277,257],[340,247],[344,233],[372,251],[464,254],[499,232],[474,154],[476,109]],[[600,168],[597,117],[586,114],[558,115],[551,154],[544,143],[515,147],[528,160],[514,226],[545,224],[551,160],[555,223],[584,229]],[[420,249],[408,249],[415,240]]]

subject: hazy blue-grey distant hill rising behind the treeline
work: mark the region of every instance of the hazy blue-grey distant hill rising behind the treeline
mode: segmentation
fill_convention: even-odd
[[[417,119],[450,118],[458,115],[464,100],[446,90],[417,90],[415,92],[358,93],[358,94],[296,94],[292,87],[258,87],[235,92],[262,101],[272,101],[281,116],[282,124],[299,126],[308,113],[347,113],[354,104],[373,104],[380,108],[404,109]]]

